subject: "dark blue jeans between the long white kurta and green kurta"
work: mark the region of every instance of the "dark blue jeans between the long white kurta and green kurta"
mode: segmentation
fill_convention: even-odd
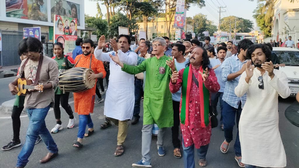
[[[135,105],[134,105],[134,112],[133,117],[140,118],[140,100],[143,96],[143,80],[135,79]]]

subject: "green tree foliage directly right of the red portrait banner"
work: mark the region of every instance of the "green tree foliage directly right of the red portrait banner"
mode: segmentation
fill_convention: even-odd
[[[92,17],[89,15],[85,14],[85,23],[87,24],[86,27],[89,28],[96,28],[97,30],[93,32],[94,35],[97,35],[98,38],[100,38],[101,35],[106,35],[108,26],[107,26],[107,21]]]

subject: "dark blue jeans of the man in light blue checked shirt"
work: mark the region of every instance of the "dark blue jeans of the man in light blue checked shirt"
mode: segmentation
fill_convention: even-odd
[[[235,141],[234,149],[237,157],[242,156],[241,146],[239,140],[239,120],[241,116],[242,108],[241,101],[239,102],[238,109],[230,106],[225,101],[223,102],[223,128],[224,128],[224,137],[226,142],[230,143],[233,140],[233,129],[235,125],[235,116],[237,121],[237,138]]]

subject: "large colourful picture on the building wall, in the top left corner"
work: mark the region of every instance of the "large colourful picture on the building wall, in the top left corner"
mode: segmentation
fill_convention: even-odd
[[[6,0],[6,17],[48,22],[48,0]]]

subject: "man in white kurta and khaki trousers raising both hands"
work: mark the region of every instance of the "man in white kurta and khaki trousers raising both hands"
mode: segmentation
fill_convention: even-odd
[[[103,53],[103,47],[106,46],[105,36],[99,39],[98,47],[94,50],[94,56],[101,61],[110,62],[109,87],[106,92],[104,104],[104,115],[115,125],[118,125],[117,147],[114,155],[119,156],[124,152],[123,143],[128,132],[128,120],[132,119],[134,110],[134,75],[121,70],[121,67],[112,61],[110,54],[118,57],[121,62],[129,65],[137,64],[138,55],[129,51],[130,38],[128,35],[120,35],[118,42],[110,40],[113,51]]]

